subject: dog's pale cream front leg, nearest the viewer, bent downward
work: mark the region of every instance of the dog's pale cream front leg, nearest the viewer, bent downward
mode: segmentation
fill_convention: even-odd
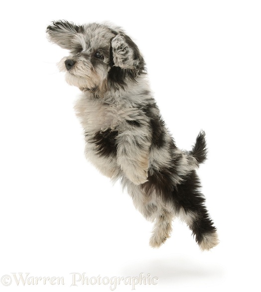
[[[145,126],[125,129],[117,137],[117,162],[134,184],[147,181],[150,136]]]

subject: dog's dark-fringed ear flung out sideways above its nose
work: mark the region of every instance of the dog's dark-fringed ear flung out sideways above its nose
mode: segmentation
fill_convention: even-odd
[[[76,25],[66,20],[53,21],[47,26],[46,32],[51,42],[58,44],[63,49],[75,50],[79,43],[75,42],[75,35],[83,32],[83,26]]]

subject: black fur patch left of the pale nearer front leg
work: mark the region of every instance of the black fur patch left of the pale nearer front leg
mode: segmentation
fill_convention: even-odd
[[[94,137],[88,139],[96,145],[96,151],[101,156],[116,156],[117,146],[116,137],[118,136],[118,131],[113,131],[108,129],[106,131],[96,132]]]

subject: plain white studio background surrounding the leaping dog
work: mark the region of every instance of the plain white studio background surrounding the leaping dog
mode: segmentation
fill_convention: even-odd
[[[73,110],[80,91],[56,67],[67,52],[45,35],[58,19],[124,27],[177,145],[190,149],[205,130],[199,175],[220,237],[212,251],[179,221],[151,249],[152,224],[86,161]],[[70,273],[158,277],[136,291],[259,291],[260,1],[16,0],[2,4],[0,28],[0,277],[65,279],[17,287],[12,278],[0,291],[110,291],[70,287]]]

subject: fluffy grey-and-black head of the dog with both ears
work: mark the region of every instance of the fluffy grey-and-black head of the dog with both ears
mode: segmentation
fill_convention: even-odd
[[[120,29],[104,24],[75,25],[53,21],[47,27],[48,38],[70,55],[58,66],[66,72],[66,81],[81,90],[104,92],[118,89],[144,73],[144,60],[134,42]]]

